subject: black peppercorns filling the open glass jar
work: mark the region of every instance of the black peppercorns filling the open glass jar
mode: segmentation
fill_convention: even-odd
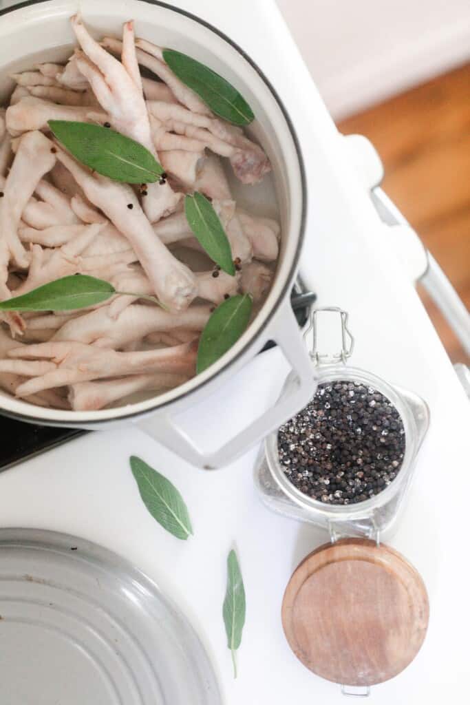
[[[319,384],[278,432],[285,477],[328,504],[355,504],[383,491],[400,471],[404,448],[403,422],[390,400],[346,380]]]

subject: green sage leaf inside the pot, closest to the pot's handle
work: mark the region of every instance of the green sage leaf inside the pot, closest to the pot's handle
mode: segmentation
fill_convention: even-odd
[[[249,294],[237,294],[223,301],[211,314],[199,339],[197,374],[204,372],[237,342],[249,323],[252,303]]]

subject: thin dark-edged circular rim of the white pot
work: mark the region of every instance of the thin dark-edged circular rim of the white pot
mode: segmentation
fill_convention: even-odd
[[[18,11],[22,8],[27,8],[29,6],[37,6],[41,4],[45,4],[50,2],[51,0],[25,0],[22,3],[19,3],[18,5],[11,6],[8,8],[3,8],[0,9],[0,18],[5,16],[7,13],[13,12],[13,11]],[[258,339],[264,331],[268,328],[268,326],[271,324],[273,321],[273,318],[276,316],[278,313],[280,307],[282,307],[283,302],[285,302],[286,295],[288,296],[290,294],[290,289],[293,286],[293,283],[295,281],[295,274],[297,271],[297,266],[299,264],[299,259],[300,259],[300,254],[302,252],[302,246],[304,244],[304,236],[305,236],[305,224],[307,221],[307,180],[305,176],[305,167],[304,167],[304,159],[302,157],[302,151],[300,149],[299,145],[299,140],[297,137],[297,133],[295,132],[294,125],[292,124],[291,118],[287,112],[287,109],[283,103],[283,101],[280,99],[280,96],[278,95],[278,92],[276,92],[276,89],[273,87],[271,84],[270,80],[266,77],[263,71],[261,71],[261,68],[256,64],[255,61],[247,54],[247,52],[242,49],[236,42],[233,41],[233,39],[230,39],[228,35],[225,34],[225,32],[222,32],[219,30],[217,27],[214,27],[214,25],[211,25],[211,23],[207,22],[206,20],[203,20],[202,18],[199,18],[198,16],[194,15],[193,13],[190,13],[186,10],[183,10],[182,8],[178,8],[175,6],[172,6],[171,4],[168,4],[167,2],[163,2],[161,0],[134,0],[136,2],[145,2],[149,5],[155,5],[155,6],[160,6],[162,8],[165,8],[166,10],[172,11],[176,14],[179,14],[181,16],[184,16],[185,18],[189,18],[190,20],[193,20],[195,23],[198,23],[199,25],[202,25],[205,27],[207,30],[213,32],[215,35],[217,35],[220,39],[222,39],[224,42],[230,45],[235,51],[237,51],[240,56],[242,56],[242,59],[245,59],[245,61],[249,64],[249,66],[256,71],[256,73],[259,75],[259,78],[264,82],[266,87],[268,88],[269,92],[271,92],[271,95],[273,96],[273,99],[276,101],[278,104],[278,107],[280,109],[280,112],[285,120],[285,123],[287,125],[287,130],[290,133],[290,137],[292,138],[292,142],[294,145],[295,149],[295,154],[297,157],[298,161],[298,166],[299,166],[299,179],[300,179],[300,185],[302,189],[302,194],[301,194],[301,211],[300,211],[300,222],[299,222],[299,238],[298,238],[298,243],[297,243],[297,248],[295,251],[295,255],[292,258],[292,263],[290,266],[290,270],[288,271],[286,278],[285,278],[285,283],[283,288],[280,290],[280,293],[278,295],[277,300],[273,303],[271,310],[267,312],[266,318],[262,322],[262,324],[259,326],[259,329],[256,331],[254,336],[250,337],[247,339],[247,342],[241,348],[235,357],[232,357],[230,360],[225,362],[223,364],[223,367],[218,369],[218,371],[213,372],[212,374],[209,374],[204,381],[202,381],[200,384],[198,384],[196,387],[184,391],[182,394],[179,396],[176,396],[173,399],[169,399],[163,403],[158,403],[156,401],[156,404],[154,406],[151,406],[145,410],[135,410],[135,411],[130,411],[128,413],[119,413],[120,409],[125,409],[125,407],[116,407],[116,415],[111,417],[111,418],[97,418],[96,416],[93,417],[83,417],[83,415],[86,412],[74,412],[74,411],[61,411],[62,415],[77,415],[80,414],[80,419],[75,418],[54,418],[54,419],[49,419],[49,418],[43,418],[43,417],[36,417],[33,414],[27,414],[26,412],[17,412],[13,410],[6,410],[4,407],[1,407],[0,403],[0,408],[1,408],[1,415],[10,417],[12,419],[17,419],[19,421],[24,421],[24,422],[33,422],[33,423],[39,423],[42,425],[47,425],[47,426],[55,426],[55,427],[70,427],[70,428],[80,428],[83,427],[84,424],[86,424],[87,428],[90,427],[99,427],[101,424],[111,424],[112,422],[122,422],[125,421],[126,419],[135,419],[138,417],[141,417],[142,415],[148,415],[151,414],[152,412],[156,411],[163,411],[168,408],[169,405],[174,405],[175,403],[180,403],[183,400],[189,400],[192,396],[194,396],[194,393],[199,392],[202,389],[207,389],[208,386],[211,384],[214,384],[214,381],[216,378],[220,378],[221,376],[225,375],[228,372],[228,368],[232,366],[233,364],[236,364],[237,362],[240,362],[240,359],[243,355],[247,353],[247,350],[253,345],[253,343]],[[154,397],[155,400],[159,399],[159,396]],[[106,411],[106,410],[105,410]],[[99,411],[92,412],[94,415],[97,415],[100,413]]]

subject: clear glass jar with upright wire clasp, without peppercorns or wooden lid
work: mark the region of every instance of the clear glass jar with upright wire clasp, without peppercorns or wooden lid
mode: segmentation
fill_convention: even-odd
[[[323,355],[317,350],[317,316],[319,312],[340,314],[342,350],[335,355]],[[429,425],[429,411],[426,402],[416,394],[397,386],[392,386],[381,377],[357,367],[349,367],[347,359],[352,355],[354,338],[347,328],[347,313],[338,308],[316,309],[311,314],[311,329],[314,331],[314,345],[311,351],[314,376],[319,384],[335,381],[356,382],[373,387],[388,398],[395,406],[404,426],[405,449],[400,470],[395,479],[375,496],[349,505],[333,505],[318,501],[299,491],[283,472],[278,457],[278,434],[270,434],[261,448],[256,463],[255,480],[262,501],[268,508],[285,516],[311,522],[326,529],[330,539],[340,537],[369,537],[379,541],[383,532],[390,535],[397,519],[402,501],[412,479],[416,456]],[[285,393],[295,376],[287,377]]]

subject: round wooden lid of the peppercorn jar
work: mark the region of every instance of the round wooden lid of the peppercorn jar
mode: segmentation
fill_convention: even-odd
[[[400,553],[369,539],[342,539],[300,563],[282,616],[304,666],[336,683],[373,685],[416,656],[429,604],[421,576]]]

